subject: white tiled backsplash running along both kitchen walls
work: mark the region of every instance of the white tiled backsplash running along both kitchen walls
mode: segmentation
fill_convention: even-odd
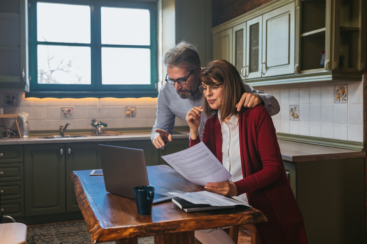
[[[277,98],[280,112],[272,117],[277,132],[363,142],[363,82],[325,81],[255,89]],[[18,106],[4,106],[5,94],[17,94]],[[107,130],[150,128],[156,119],[156,104],[157,98],[41,99],[24,98],[23,92],[0,92],[4,113],[29,113],[31,131],[57,130],[66,123],[70,124],[68,129],[88,130],[93,118],[102,119]],[[61,119],[62,108],[71,108],[72,119]],[[127,116],[131,109],[135,116]],[[15,127],[13,120],[7,125]],[[186,124],[176,118],[176,126]]]

